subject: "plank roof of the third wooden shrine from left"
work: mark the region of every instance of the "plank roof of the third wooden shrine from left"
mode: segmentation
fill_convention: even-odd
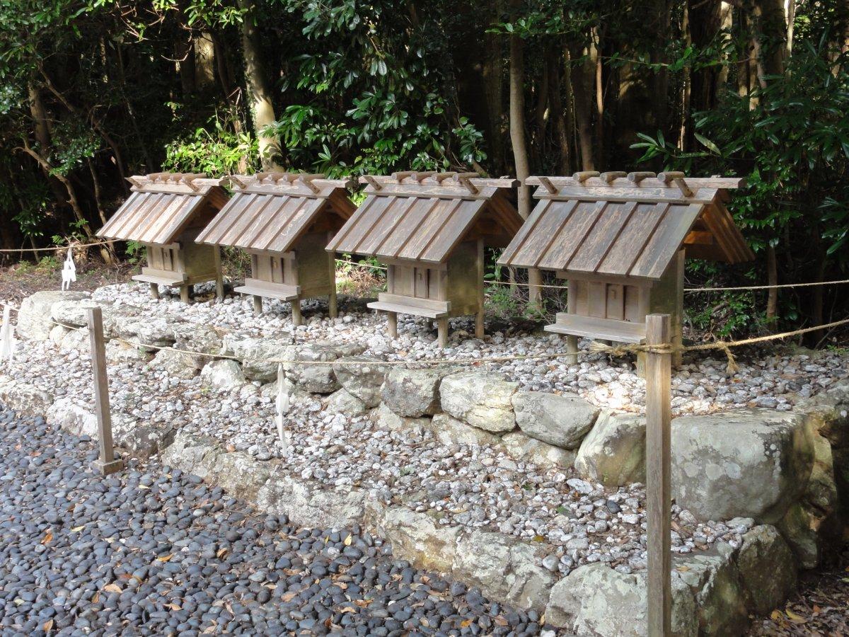
[[[368,184],[366,200],[330,241],[329,251],[441,263],[473,230],[504,237],[504,245],[522,223],[507,196],[518,183],[514,179],[396,172],[360,181]]]

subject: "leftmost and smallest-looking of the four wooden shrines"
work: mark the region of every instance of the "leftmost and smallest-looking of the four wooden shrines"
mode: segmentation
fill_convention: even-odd
[[[217,296],[224,296],[218,249],[195,243],[200,230],[228,201],[219,180],[157,172],[128,181],[130,197],[100,228],[98,237],[144,246],[147,265],[132,279],[149,283],[154,298],[159,298],[160,285],[169,285],[180,288],[180,299],[189,302],[192,286],[211,280],[216,282]]]

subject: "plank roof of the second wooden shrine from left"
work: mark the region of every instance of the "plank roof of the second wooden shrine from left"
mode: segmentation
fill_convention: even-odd
[[[339,227],[356,208],[346,193],[353,184],[348,179],[261,172],[230,183],[233,198],[198,235],[198,243],[288,252],[323,211],[335,213]]]

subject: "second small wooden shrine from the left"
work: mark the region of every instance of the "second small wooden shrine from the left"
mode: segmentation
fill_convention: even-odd
[[[233,291],[254,298],[292,302],[292,321],[301,324],[301,300],[329,298],[336,316],[333,255],[324,246],[357,206],[348,199],[347,179],[294,172],[260,172],[230,178],[233,198],[198,236],[211,245],[229,245],[250,253],[250,274]]]

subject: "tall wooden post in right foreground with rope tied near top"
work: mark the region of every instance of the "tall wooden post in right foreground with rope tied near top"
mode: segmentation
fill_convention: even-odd
[[[672,352],[669,314],[646,316],[645,453],[649,549],[649,637],[672,634]],[[653,351],[654,350],[654,351]]]

